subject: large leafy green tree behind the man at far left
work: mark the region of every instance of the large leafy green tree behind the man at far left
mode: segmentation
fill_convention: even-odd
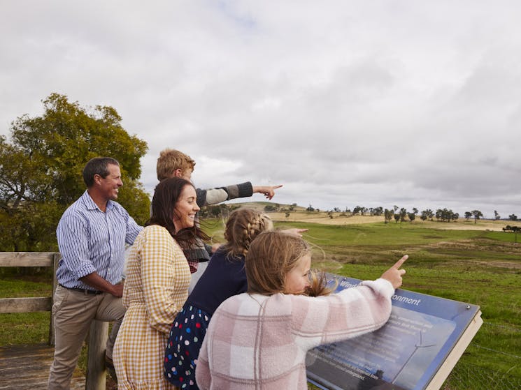
[[[122,180],[118,202],[143,224],[150,199],[138,182],[146,142],[121,126],[113,107],[86,109],[52,93],[41,117],[24,114],[11,123],[11,140],[0,137],[0,250],[56,250],[60,216],[85,191],[82,171],[96,156],[116,158]]]

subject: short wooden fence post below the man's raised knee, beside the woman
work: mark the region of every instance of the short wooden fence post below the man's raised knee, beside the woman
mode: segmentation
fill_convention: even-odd
[[[108,338],[108,322],[92,321],[89,331],[89,354],[85,390],[106,389],[105,347]]]

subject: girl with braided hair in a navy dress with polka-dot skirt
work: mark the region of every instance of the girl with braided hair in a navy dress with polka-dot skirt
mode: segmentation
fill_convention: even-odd
[[[260,233],[273,229],[269,216],[254,209],[233,211],[226,223],[226,243],[215,252],[185,306],[173,321],[164,357],[166,380],[180,389],[199,389],[195,367],[208,323],[217,306],[248,290],[244,258]],[[307,229],[290,229],[298,234]]]

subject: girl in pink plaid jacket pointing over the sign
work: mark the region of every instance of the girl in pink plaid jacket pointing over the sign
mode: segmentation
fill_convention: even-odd
[[[311,250],[303,239],[264,232],[245,257],[248,292],[215,310],[199,352],[205,389],[307,389],[306,352],[387,322],[407,256],[377,280],[325,297],[304,294]]]

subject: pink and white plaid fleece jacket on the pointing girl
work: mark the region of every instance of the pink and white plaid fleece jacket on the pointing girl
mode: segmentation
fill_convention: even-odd
[[[307,389],[306,352],[380,328],[394,288],[366,280],[328,297],[239,294],[217,308],[199,352],[199,389]]]

